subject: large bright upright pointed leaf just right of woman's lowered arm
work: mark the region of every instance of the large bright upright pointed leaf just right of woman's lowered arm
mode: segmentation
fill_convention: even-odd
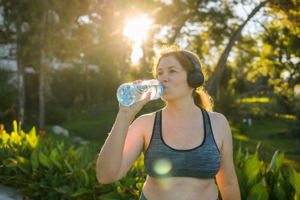
[[[251,188],[261,179],[261,172],[259,169],[259,160],[257,151],[255,154],[245,163],[242,173],[247,181],[248,186]]]

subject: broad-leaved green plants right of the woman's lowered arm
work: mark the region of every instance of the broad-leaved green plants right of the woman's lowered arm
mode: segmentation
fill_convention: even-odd
[[[234,155],[235,171],[241,199],[297,199],[299,174],[289,165],[283,165],[284,154],[275,152],[270,163],[259,161],[257,151],[248,155],[241,146]]]

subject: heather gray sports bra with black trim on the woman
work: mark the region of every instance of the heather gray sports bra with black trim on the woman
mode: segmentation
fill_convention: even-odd
[[[189,150],[168,146],[161,134],[161,110],[156,112],[152,137],[144,155],[144,165],[149,176],[194,177],[212,179],[220,169],[220,152],[211,130],[208,113],[201,109],[204,139],[201,145]]]

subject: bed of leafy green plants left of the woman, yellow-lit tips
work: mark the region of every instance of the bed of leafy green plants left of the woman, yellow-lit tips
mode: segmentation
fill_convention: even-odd
[[[146,181],[141,157],[120,181],[99,184],[87,146],[44,140],[35,127],[24,133],[16,121],[11,134],[1,127],[0,152],[0,183],[30,199],[138,199]]]

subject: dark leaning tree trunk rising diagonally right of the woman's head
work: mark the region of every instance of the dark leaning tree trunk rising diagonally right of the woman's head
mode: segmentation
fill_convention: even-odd
[[[220,82],[220,77],[222,76],[222,74],[225,70],[225,67],[226,67],[226,61],[227,61],[228,55],[229,55],[235,41],[240,36],[242,29],[247,24],[247,22],[259,11],[259,9],[261,7],[263,7],[268,1],[270,1],[270,0],[262,1],[258,6],[256,6],[252,10],[252,12],[249,14],[246,21],[244,21],[244,23],[233,33],[231,39],[229,40],[228,45],[226,46],[224,52],[222,53],[222,55],[217,63],[217,66],[215,67],[213,75],[206,82],[205,88],[210,95],[215,95],[215,93],[216,93],[217,85]]]

